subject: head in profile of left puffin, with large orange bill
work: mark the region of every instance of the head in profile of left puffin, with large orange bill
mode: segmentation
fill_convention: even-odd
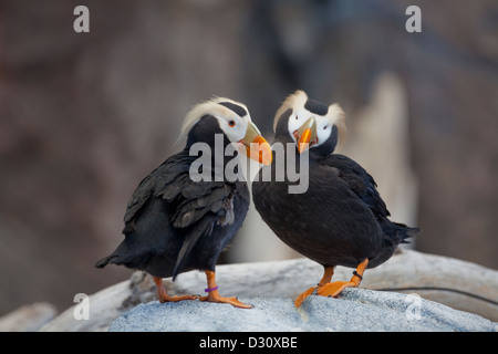
[[[226,97],[197,104],[187,114],[178,140],[187,135],[187,146],[197,142],[211,144],[215,134],[224,134],[226,144],[243,145],[249,158],[271,164],[271,147],[252,123],[245,104]]]

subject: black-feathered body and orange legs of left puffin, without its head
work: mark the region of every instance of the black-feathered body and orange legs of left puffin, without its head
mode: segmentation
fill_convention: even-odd
[[[247,115],[241,106],[236,111]],[[248,126],[253,125],[249,122]],[[125,239],[113,253],[96,263],[97,268],[114,263],[146,271],[154,277],[162,302],[197,298],[168,296],[162,287],[162,278],[175,279],[181,272],[204,270],[209,295],[200,300],[248,308],[234,298],[219,296],[215,281],[217,259],[240,229],[249,208],[247,184],[217,180],[214,168],[210,180],[194,181],[190,178],[190,167],[198,158],[190,155],[190,147],[195,143],[206,143],[214,152],[216,134],[222,135],[225,150],[230,140],[220,128],[219,119],[211,115],[200,117],[189,131],[185,148],[141,181],[124,216]],[[215,166],[215,158],[212,154],[211,166]],[[232,158],[224,156],[222,166]]]

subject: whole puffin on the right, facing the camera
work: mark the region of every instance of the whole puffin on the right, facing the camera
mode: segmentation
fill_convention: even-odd
[[[277,111],[273,131],[273,163],[262,166],[252,181],[256,210],[284,243],[324,268],[318,285],[295,299],[299,308],[311,294],[336,298],[345,288],[359,287],[365,269],[387,261],[419,228],[391,221],[373,177],[334,153],[346,135],[339,104],[310,100],[299,90]],[[280,149],[287,165],[276,164],[276,144],[292,145]],[[308,159],[308,188],[291,194],[295,181],[288,168],[290,162],[301,166],[301,158]],[[276,166],[286,166],[283,178],[274,177]],[[350,281],[331,282],[336,266],[355,269]]]

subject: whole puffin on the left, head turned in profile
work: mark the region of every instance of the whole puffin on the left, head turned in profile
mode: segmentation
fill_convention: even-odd
[[[270,145],[247,106],[226,97],[194,106],[178,140],[185,135],[184,149],[138,184],[124,215],[124,240],[95,267],[113,263],[149,273],[160,303],[198,299],[249,309],[237,298],[221,296],[216,282],[217,259],[242,226],[250,204],[243,176],[229,178],[224,171],[232,166],[232,175],[241,176],[234,163],[239,153],[269,165]],[[207,295],[168,295],[163,278],[175,280],[190,270],[206,273]]]

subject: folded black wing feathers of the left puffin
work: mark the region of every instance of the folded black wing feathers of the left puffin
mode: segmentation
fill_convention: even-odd
[[[174,277],[200,237],[209,236],[215,225],[234,222],[235,185],[224,181],[193,181],[188,174],[191,158],[181,152],[145,177],[133,194],[124,216],[123,232],[132,233],[136,231],[135,219],[151,198],[160,198],[174,206],[172,225],[175,229],[184,230]]]

